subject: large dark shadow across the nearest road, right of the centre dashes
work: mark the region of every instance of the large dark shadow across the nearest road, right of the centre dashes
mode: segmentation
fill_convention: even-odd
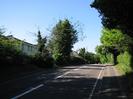
[[[63,77],[48,82],[45,88],[35,91],[24,99],[133,99],[126,76],[99,79],[94,92],[95,78]],[[131,89],[131,88],[130,88]],[[92,93],[92,97],[90,94]]]

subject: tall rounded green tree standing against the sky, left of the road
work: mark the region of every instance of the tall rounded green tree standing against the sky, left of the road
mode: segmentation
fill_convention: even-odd
[[[55,60],[67,61],[70,59],[73,45],[78,41],[77,30],[68,20],[60,20],[52,29],[49,42]]]

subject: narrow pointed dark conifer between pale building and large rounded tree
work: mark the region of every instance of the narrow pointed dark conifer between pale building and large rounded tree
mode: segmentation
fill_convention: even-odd
[[[40,31],[38,31],[37,37],[38,37],[38,40],[37,40],[38,53],[34,57],[34,63],[39,67],[43,67],[43,68],[53,67],[54,59],[52,58],[49,51],[47,50],[46,37],[42,38]]]

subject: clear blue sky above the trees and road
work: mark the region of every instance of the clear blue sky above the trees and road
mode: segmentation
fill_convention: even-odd
[[[5,35],[36,44],[38,29],[49,36],[59,19],[80,24],[83,35],[73,50],[85,47],[95,52],[102,29],[99,13],[90,7],[93,0],[0,0],[0,27]],[[80,31],[81,31],[80,30]]]

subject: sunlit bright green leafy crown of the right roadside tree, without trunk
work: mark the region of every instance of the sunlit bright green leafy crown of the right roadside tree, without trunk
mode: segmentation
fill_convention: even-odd
[[[108,28],[102,30],[100,40],[104,46],[108,46],[110,49],[112,48],[112,50],[113,48],[116,48],[119,51],[126,50],[128,45],[131,45],[133,42],[131,37],[123,34],[120,30]]]

